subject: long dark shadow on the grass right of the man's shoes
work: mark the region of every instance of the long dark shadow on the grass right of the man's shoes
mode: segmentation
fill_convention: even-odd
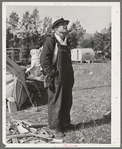
[[[89,128],[89,127],[94,127],[94,126],[100,126],[103,124],[108,124],[111,122],[111,115],[107,115],[101,119],[96,119],[96,120],[91,120],[89,122],[85,122],[85,123],[78,123],[76,124],[76,129],[80,129],[82,127],[84,128]]]

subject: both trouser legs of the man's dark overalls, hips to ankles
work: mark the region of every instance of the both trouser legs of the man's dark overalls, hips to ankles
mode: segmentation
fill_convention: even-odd
[[[67,69],[67,71],[64,71],[64,81],[61,81],[60,78],[60,75],[55,78],[55,87],[48,88],[48,121],[50,129],[60,129],[62,126],[70,124],[72,87],[74,84],[72,70]]]

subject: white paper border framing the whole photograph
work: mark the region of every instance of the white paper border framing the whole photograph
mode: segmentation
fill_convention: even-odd
[[[67,144],[67,147],[120,147],[120,2],[3,2],[2,3],[2,140],[6,145],[6,6],[111,6],[111,144]],[[40,146],[41,145],[41,146]],[[26,144],[7,144],[6,147],[30,147]],[[64,147],[64,144],[31,144],[31,147]],[[66,147],[66,146],[65,146]]]

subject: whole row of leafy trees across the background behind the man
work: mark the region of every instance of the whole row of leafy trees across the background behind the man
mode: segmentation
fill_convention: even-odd
[[[45,16],[40,19],[37,8],[30,14],[26,11],[20,20],[16,12],[12,12],[6,19],[6,46],[15,47],[26,51],[26,57],[29,56],[31,49],[40,48],[46,38],[53,33],[52,18]],[[93,48],[96,57],[111,58],[111,24],[108,29],[96,32],[94,37],[84,39],[86,30],[80,24],[80,21],[73,22],[68,31],[68,42],[73,48]],[[99,55],[99,51],[102,51]]]

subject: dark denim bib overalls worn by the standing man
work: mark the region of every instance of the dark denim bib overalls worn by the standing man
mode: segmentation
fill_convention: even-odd
[[[70,124],[72,106],[74,72],[68,46],[58,44],[55,69],[54,87],[48,88],[48,122],[50,129],[59,130]]]

